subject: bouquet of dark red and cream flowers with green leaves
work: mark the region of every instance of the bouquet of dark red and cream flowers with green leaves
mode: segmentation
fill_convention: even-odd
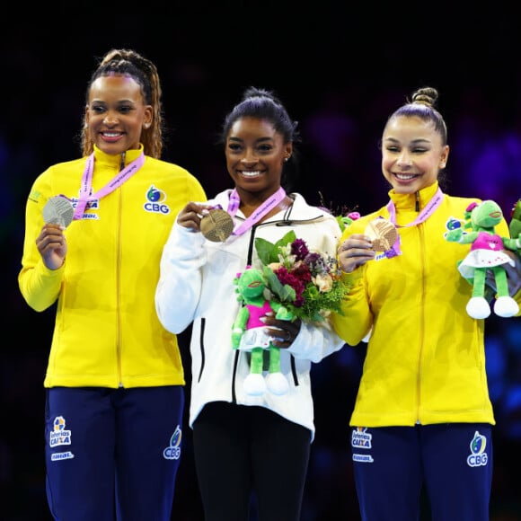
[[[342,313],[340,302],[347,287],[340,280],[336,258],[310,252],[294,231],[277,243],[255,240],[266,279],[267,300],[285,306],[294,317],[305,322],[321,322],[331,311]]]

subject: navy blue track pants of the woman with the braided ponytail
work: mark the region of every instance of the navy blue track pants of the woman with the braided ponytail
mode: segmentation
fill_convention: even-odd
[[[169,521],[181,457],[180,385],[46,390],[49,508],[57,521]]]

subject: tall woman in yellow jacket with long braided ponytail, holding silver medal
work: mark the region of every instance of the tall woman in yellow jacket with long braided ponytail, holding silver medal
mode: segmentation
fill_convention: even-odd
[[[156,67],[113,49],[88,84],[83,157],[50,166],[27,200],[20,289],[36,311],[57,303],[44,381],[55,519],[171,518],[185,381],[155,286],[175,216],[206,196],[161,152]]]

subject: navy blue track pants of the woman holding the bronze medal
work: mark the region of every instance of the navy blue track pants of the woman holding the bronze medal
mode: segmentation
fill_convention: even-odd
[[[363,521],[417,521],[426,487],[432,521],[489,521],[492,427],[449,423],[353,428]]]

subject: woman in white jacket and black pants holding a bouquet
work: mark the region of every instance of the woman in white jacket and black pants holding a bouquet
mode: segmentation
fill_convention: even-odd
[[[190,427],[206,521],[245,521],[252,492],[261,521],[300,519],[314,435],[311,363],[343,346],[328,321],[269,316],[265,330],[281,348],[289,389],[282,395],[244,393],[249,357],[231,341],[241,307],[234,277],[260,266],[255,239],[275,243],[294,230],[310,250],[335,257],[340,238],[334,216],[282,188],[297,138],[296,122],[273,93],[247,89],[222,131],[234,190],[188,204],[163,250],[155,296],[159,319],[176,333],[192,323]],[[232,217],[233,232],[225,238],[218,236],[222,230],[210,230],[208,240],[201,218],[215,208]],[[202,227],[205,232],[204,222]]]

